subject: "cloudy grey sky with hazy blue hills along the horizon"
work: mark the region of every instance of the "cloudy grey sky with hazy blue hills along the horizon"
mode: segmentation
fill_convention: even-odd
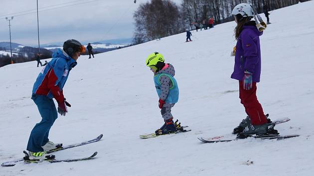
[[[38,0],[40,44],[63,43],[69,38],[82,42],[132,38],[133,13],[147,1]],[[180,4],[182,0],[172,1]],[[12,42],[38,45],[36,0],[0,0],[0,6],[0,42],[9,41],[5,17],[14,16]]]

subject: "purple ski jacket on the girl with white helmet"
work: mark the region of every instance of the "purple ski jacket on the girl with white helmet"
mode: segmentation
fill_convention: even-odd
[[[253,21],[254,22],[254,21]],[[231,78],[241,81],[244,71],[253,73],[253,82],[260,82],[261,76],[261,48],[260,37],[263,32],[258,31],[255,22],[246,23],[236,45],[234,70]]]

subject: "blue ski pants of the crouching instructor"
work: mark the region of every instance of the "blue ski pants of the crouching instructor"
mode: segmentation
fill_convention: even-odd
[[[53,99],[50,99],[45,95],[36,94],[33,94],[31,99],[33,99],[37,105],[42,119],[30,132],[27,150],[30,152],[41,152],[43,151],[41,146],[49,141],[49,130],[54,121],[58,118],[58,113]]]

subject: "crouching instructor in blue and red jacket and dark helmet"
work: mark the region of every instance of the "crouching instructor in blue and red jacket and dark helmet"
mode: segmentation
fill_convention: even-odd
[[[84,52],[85,47],[79,41],[65,41],[63,50],[58,49],[52,54],[52,60],[39,73],[34,83],[31,99],[37,105],[42,119],[34,126],[29,136],[27,151],[31,160],[46,159],[47,151],[62,145],[49,141],[49,130],[58,113],[65,115],[68,112],[66,106],[71,107],[65,100],[62,89],[71,69],[77,65],[78,57]],[[58,102],[58,110],[53,98]]]

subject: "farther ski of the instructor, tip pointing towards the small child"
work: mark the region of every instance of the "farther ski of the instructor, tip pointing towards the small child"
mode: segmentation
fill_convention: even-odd
[[[61,151],[61,150],[69,149],[69,148],[74,148],[74,147],[78,147],[78,146],[82,146],[82,145],[98,142],[98,141],[101,140],[102,137],[103,137],[103,134],[99,135],[95,139],[92,139],[92,140],[89,140],[89,141],[85,141],[85,142],[81,142],[81,143],[76,143],[76,144],[63,146],[63,147],[60,147],[60,148],[56,148],[56,149],[48,151],[47,153],[53,153],[53,152],[57,152],[57,151]],[[23,159],[16,159],[16,160],[13,160],[13,161],[4,162],[4,163],[1,164],[1,166],[2,167],[14,166],[17,162],[21,162],[21,161],[23,161]]]

